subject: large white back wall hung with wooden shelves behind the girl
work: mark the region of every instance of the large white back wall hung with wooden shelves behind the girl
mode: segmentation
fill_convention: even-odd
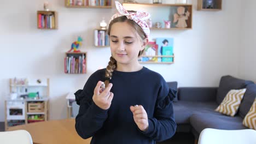
[[[9,92],[9,78],[50,78],[50,119],[66,118],[66,94],[83,88],[88,77],[106,67],[109,48],[92,46],[93,29],[102,17],[115,9],[68,9],[64,0],[49,1],[59,14],[59,29],[37,29],[36,11],[43,0],[4,1],[0,5],[0,121],[4,121],[4,98]],[[241,43],[241,1],[223,1],[221,11],[197,11],[193,0],[193,29],[187,31],[152,31],[152,38],[173,37],[174,64],[145,64],[166,81],[178,86],[218,86],[220,76],[238,76]],[[161,15],[161,14],[160,14]],[[63,73],[64,52],[81,35],[82,50],[88,51],[88,74]],[[245,53],[246,55],[246,53]]]

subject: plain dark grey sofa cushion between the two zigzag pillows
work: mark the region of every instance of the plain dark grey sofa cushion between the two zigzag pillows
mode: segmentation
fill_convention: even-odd
[[[244,118],[248,113],[250,107],[253,104],[253,100],[256,98],[256,84],[250,84],[246,87],[246,93],[243,96],[241,105],[239,106],[239,115]]]

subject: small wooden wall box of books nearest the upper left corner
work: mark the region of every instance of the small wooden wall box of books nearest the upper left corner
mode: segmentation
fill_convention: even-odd
[[[38,29],[57,29],[56,11],[37,11]]]

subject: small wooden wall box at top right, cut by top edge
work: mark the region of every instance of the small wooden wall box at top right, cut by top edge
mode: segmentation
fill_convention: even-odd
[[[218,11],[222,10],[222,0],[212,0],[213,4],[207,5],[207,0],[197,0],[197,10]]]

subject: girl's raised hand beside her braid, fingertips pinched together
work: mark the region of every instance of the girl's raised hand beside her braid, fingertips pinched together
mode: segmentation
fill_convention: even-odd
[[[110,92],[113,84],[109,83],[109,85],[101,92],[101,81],[98,81],[97,86],[94,89],[94,96],[92,96],[92,100],[94,103],[103,110],[109,109],[111,105],[111,101],[114,97],[114,94]]]

